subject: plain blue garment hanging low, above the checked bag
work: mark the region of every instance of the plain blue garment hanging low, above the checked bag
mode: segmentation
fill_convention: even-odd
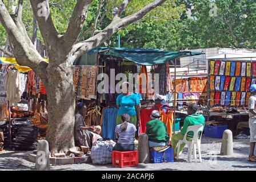
[[[102,138],[115,139],[118,109],[107,107],[103,110]]]

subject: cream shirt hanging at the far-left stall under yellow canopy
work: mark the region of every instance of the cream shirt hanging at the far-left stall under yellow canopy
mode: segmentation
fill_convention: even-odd
[[[21,77],[19,71],[15,69],[9,69],[5,82],[6,98],[10,102],[10,105],[17,105],[21,101]]]

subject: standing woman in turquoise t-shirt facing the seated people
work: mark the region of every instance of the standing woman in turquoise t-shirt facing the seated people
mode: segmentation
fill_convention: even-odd
[[[141,126],[141,113],[139,111],[139,98],[136,94],[129,92],[129,82],[123,82],[122,93],[117,97],[117,125],[122,124],[121,115],[129,114],[130,123]]]

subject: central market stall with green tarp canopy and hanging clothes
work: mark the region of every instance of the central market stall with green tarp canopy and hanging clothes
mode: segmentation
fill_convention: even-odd
[[[146,123],[150,121],[149,113],[154,109],[161,111],[162,121],[166,123],[168,133],[171,135],[173,133],[175,108],[171,105],[174,102],[173,98],[170,98],[170,95],[172,95],[170,93],[173,92],[169,71],[171,64],[170,60],[174,60],[177,57],[198,54],[201,53],[106,47],[90,51],[87,55],[82,56],[79,60],[75,61],[75,67],[73,68],[77,100],[82,100],[86,104],[93,105],[93,107],[89,107],[90,109],[88,109],[89,119],[85,119],[86,124],[95,126],[99,123],[99,126],[102,127],[102,137],[104,139],[114,139],[114,129],[118,113],[118,109],[115,106],[118,96],[118,93],[115,92],[115,85],[120,81],[118,79],[115,80],[115,77],[118,73],[125,73],[127,77],[129,77],[129,73],[137,73],[138,76],[142,73],[146,73],[146,85],[151,84],[149,80],[152,78],[151,80],[153,84],[151,89],[154,90],[154,76],[150,76],[154,75],[154,73],[158,73],[159,94],[163,96],[163,100],[159,100],[158,96],[154,94],[154,91],[150,92],[151,90],[146,90],[146,92],[142,93],[143,78],[134,78],[134,83],[139,85],[138,88],[135,88],[134,86],[134,93],[137,93],[137,96],[141,101],[142,126],[139,129],[137,136],[146,132]],[[91,72],[91,70],[93,71]],[[95,82],[98,85],[100,81],[97,81],[95,73],[105,73],[108,76],[109,80],[105,83],[108,85],[107,90],[109,92],[101,94],[96,92],[96,85],[93,83]],[[87,82],[90,82],[90,88],[83,86],[88,85],[86,84]]]

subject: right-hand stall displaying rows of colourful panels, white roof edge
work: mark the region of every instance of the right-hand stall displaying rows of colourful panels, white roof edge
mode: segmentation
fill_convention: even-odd
[[[225,129],[250,135],[248,102],[250,86],[256,83],[256,55],[218,55],[208,58],[208,127],[218,127],[215,133]],[[208,133],[216,136],[215,133]],[[210,131],[210,130],[209,130]]]

